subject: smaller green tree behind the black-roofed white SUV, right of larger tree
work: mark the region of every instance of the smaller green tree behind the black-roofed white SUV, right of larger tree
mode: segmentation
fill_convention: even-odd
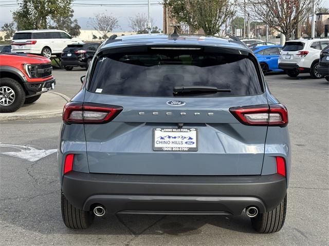
[[[80,35],[80,26],[78,25],[77,19],[73,18],[73,10],[68,16],[58,16],[53,19],[53,25],[49,28],[60,29],[68,32],[71,36]]]

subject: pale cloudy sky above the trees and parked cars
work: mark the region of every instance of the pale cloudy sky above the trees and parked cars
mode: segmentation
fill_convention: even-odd
[[[162,6],[158,3],[161,0],[150,0],[151,17],[154,20],[154,26],[162,30]],[[205,0],[207,1],[207,0]],[[11,22],[11,13],[17,8],[15,0],[0,0],[0,27]],[[74,0],[73,10],[74,18],[78,19],[81,29],[92,29],[87,25],[89,17],[93,17],[95,13],[107,12],[118,18],[119,28],[115,32],[131,31],[129,27],[129,16],[137,13],[148,14],[148,0]],[[97,6],[100,4],[111,4],[112,6]],[[118,6],[119,5],[119,6]],[[322,0],[321,6],[329,8],[329,0]]]

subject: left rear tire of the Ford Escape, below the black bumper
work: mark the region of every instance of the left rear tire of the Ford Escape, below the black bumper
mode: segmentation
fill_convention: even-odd
[[[90,211],[75,208],[61,193],[62,218],[70,229],[86,229],[93,223],[95,215]]]

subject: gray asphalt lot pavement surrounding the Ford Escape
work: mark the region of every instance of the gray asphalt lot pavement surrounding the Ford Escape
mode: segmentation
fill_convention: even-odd
[[[56,92],[73,96],[84,69],[54,70]],[[60,117],[1,122],[2,245],[327,245],[328,82],[308,74],[268,75],[272,94],[289,112],[293,166],[286,223],[279,233],[254,233],[247,216],[105,215],[87,230],[61,219],[57,148]],[[37,104],[38,102],[36,102]],[[30,161],[8,152],[31,146],[49,155]],[[42,151],[41,151],[42,152]],[[22,156],[23,157],[23,156]],[[13,237],[13,235],[15,235]]]

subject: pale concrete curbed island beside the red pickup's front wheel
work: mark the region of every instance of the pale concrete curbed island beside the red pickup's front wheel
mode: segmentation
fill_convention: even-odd
[[[49,94],[48,94],[49,93]],[[33,103],[29,106],[22,107],[21,109],[17,110],[13,113],[0,113],[0,121],[4,120],[17,120],[17,119],[43,119],[43,118],[52,118],[52,117],[59,117],[62,116],[63,113],[63,106],[65,103],[67,103],[70,98],[62,93],[48,91],[47,94],[48,98],[43,98],[42,104],[47,104],[49,95],[52,95],[53,98],[50,99],[50,102],[52,100],[51,106],[52,109],[49,107],[47,109],[44,109],[45,107],[42,106],[41,109],[38,109],[38,101],[36,103]],[[44,97],[45,97],[44,95]],[[47,96],[46,96],[47,97]],[[42,97],[41,97],[42,98]],[[41,103],[41,102],[40,102]],[[35,104],[35,105],[34,105]],[[36,106],[33,108],[33,106]],[[36,108],[36,109],[35,109]]]

